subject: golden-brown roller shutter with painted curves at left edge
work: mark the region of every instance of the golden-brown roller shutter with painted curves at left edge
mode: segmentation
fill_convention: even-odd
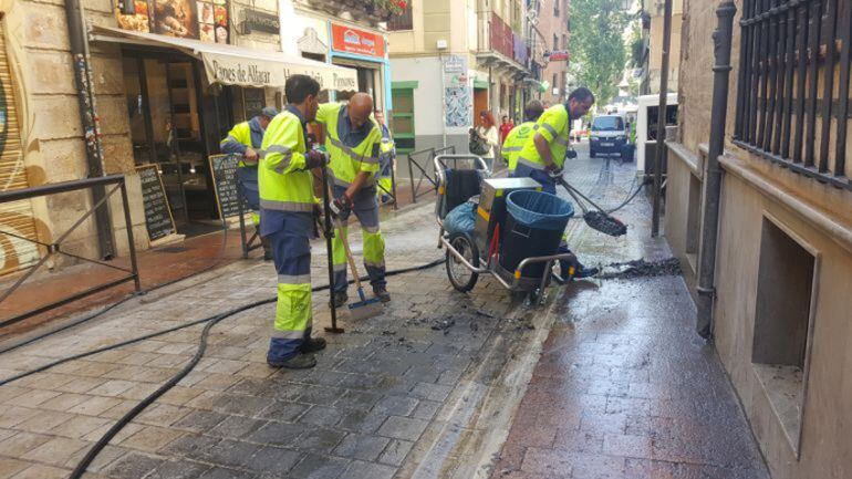
[[[6,23],[0,20],[0,191],[30,186],[23,165],[21,131],[14,98],[14,85],[6,51]],[[30,200],[0,205],[0,231],[37,238]],[[39,250],[34,243],[0,233],[0,274],[27,268],[38,259]]]

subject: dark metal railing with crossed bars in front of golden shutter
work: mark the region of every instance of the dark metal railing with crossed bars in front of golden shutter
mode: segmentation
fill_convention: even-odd
[[[89,296],[91,294],[101,292],[103,290],[117,287],[120,284],[123,284],[127,281],[133,281],[134,285],[136,287],[136,292],[139,292],[142,290],[142,284],[139,283],[139,274],[138,274],[138,268],[136,264],[136,246],[133,240],[133,221],[131,220],[131,207],[129,201],[127,199],[127,185],[125,184],[124,175],[110,175],[110,176],[103,176],[97,178],[86,178],[86,179],[79,179],[74,181],[64,181],[53,185],[42,185],[42,186],[35,186],[32,188],[24,188],[24,189],[18,189],[14,191],[3,191],[0,192],[0,205],[8,204],[10,201],[20,201],[24,199],[35,198],[40,196],[48,196],[48,195],[56,195],[61,192],[69,192],[69,191],[77,191],[81,189],[89,189],[94,187],[106,187],[107,185],[114,185],[112,189],[110,189],[106,195],[101,198],[100,201],[97,201],[94,206],[92,206],[83,216],[81,216],[72,226],[69,228],[65,232],[59,236],[58,239],[55,239],[53,242],[46,243],[39,240],[34,240],[32,238],[27,238],[24,236],[20,236],[10,231],[1,231],[0,235],[6,235],[13,237],[15,239],[22,240],[22,241],[29,241],[32,243],[38,244],[41,247],[40,249],[44,251],[44,254],[41,257],[41,259],[33,265],[31,265],[28,271],[23,274],[21,274],[20,278],[6,291],[0,294],[0,303],[8,300],[12,293],[14,293],[18,289],[21,288],[21,285],[30,278],[32,277],[35,271],[41,268],[48,260],[53,257],[54,254],[64,254],[69,258],[74,258],[76,260],[100,264],[102,267],[106,267],[113,270],[122,271],[126,273],[126,275],[121,277],[115,280],[111,280],[104,283],[101,283],[96,287],[89,288],[82,292],[74,293],[71,295],[67,295],[61,300],[53,301],[49,304],[38,306],[34,309],[31,309],[24,313],[20,313],[13,317],[6,319],[3,321],[0,321],[0,327],[8,326],[10,324],[14,324],[19,321],[25,320],[28,317],[34,316],[37,314],[41,314],[43,312],[50,311],[54,308],[59,308],[61,305],[67,304],[72,301],[80,300],[82,298]],[[127,230],[127,246],[129,248],[129,256],[131,256],[131,269],[122,268],[115,264],[110,264],[105,261],[98,261],[91,258],[85,258],[80,254],[75,254],[71,251],[66,251],[62,248],[62,243],[71,236],[71,233],[76,230],[85,220],[94,215],[100,208],[106,207],[106,201],[116,192],[121,191],[122,194],[122,208],[124,209],[124,221]]]

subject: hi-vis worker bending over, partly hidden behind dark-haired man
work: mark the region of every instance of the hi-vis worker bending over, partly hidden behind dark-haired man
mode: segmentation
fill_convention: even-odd
[[[219,143],[222,153],[238,155],[240,160],[237,168],[237,181],[242,196],[251,208],[251,222],[260,230],[260,198],[258,197],[258,163],[263,156],[261,145],[263,143],[263,133],[269,126],[269,122],[278,115],[278,110],[271,106],[260,111],[260,115],[254,116],[248,122],[233,125],[228,136]],[[272,250],[269,241],[261,237],[263,244],[263,259],[272,259]]]

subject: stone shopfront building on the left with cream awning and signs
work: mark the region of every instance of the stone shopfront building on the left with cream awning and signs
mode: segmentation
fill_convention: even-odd
[[[81,2],[91,71],[85,84],[94,98],[86,114],[77,102],[74,69],[86,56],[72,61],[64,4],[0,4],[0,180],[9,190],[86,178],[92,175],[86,146],[94,144],[103,171],[127,178],[138,249],[220,228],[211,169],[219,140],[263,106],[282,107],[287,75],[314,75],[331,98],[336,92],[341,100],[356,90],[371,92],[380,107],[389,110],[386,42],[375,29],[388,12],[367,3],[349,20],[341,14],[331,22],[328,12],[316,13],[309,21],[328,29],[315,38],[302,29],[293,39],[294,20],[284,17],[277,0]],[[320,43],[328,48],[322,59],[311,53]],[[303,55],[297,54],[300,45]],[[168,200],[164,216],[174,229],[152,231],[142,171],[156,171]],[[52,243],[92,206],[87,190],[3,205],[0,227],[15,236],[0,238],[0,273],[21,270],[46,253],[17,237]],[[111,241],[103,241],[98,223],[90,220],[63,240],[63,250],[96,259],[125,254],[121,197],[110,200],[105,222]],[[48,265],[62,265],[62,258],[74,262],[58,258]]]

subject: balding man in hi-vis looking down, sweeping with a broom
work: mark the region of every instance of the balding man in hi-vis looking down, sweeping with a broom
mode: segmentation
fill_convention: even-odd
[[[346,235],[350,212],[361,222],[364,241],[364,265],[370,274],[373,293],[382,302],[391,301],[385,281],[385,240],[378,229],[376,175],[381,154],[382,131],[371,118],[373,98],[356,93],[347,105],[320,105],[316,122],[325,126],[325,149],[331,154],[329,167],[334,204],[341,210],[343,231],[336,231],[332,241],[334,263],[335,306],[349,300],[346,294],[346,252],[340,235]]]

